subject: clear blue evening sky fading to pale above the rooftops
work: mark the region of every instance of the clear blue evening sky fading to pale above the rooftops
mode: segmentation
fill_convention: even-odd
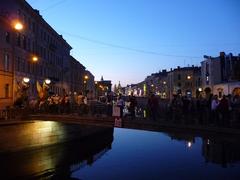
[[[99,80],[137,83],[162,69],[240,53],[239,0],[27,0]]]

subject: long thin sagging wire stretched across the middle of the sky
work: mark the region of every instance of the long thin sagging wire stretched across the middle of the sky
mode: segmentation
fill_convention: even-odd
[[[168,56],[168,57],[178,57],[178,58],[201,58],[200,56],[173,55],[173,54],[165,54],[165,53],[160,53],[160,52],[155,52],[155,51],[137,49],[137,48],[132,48],[132,47],[126,47],[126,46],[122,46],[122,45],[117,45],[117,44],[103,42],[103,41],[99,41],[99,40],[95,40],[95,39],[86,38],[86,37],[83,37],[83,36],[80,36],[80,35],[71,34],[71,33],[67,33],[67,32],[64,32],[64,31],[60,31],[60,32],[65,34],[65,35],[75,37],[75,38],[78,38],[78,39],[82,39],[84,41],[88,41],[88,42],[91,42],[91,43],[100,44],[100,45],[104,45],[104,46],[108,46],[108,47],[112,47],[112,48],[124,49],[124,50],[128,50],[128,51],[134,51],[134,52],[143,53],[143,54],[152,54],[152,55],[158,55],[158,56]]]

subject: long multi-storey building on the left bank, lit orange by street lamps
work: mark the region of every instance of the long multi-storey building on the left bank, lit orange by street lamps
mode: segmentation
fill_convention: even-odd
[[[80,91],[85,67],[70,56],[71,49],[25,0],[1,0],[0,108],[13,105],[23,80],[30,98],[46,80],[54,94]]]

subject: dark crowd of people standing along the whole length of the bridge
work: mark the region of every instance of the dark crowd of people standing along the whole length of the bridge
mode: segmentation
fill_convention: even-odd
[[[120,116],[129,116],[134,119],[138,117],[147,117],[153,121],[166,120],[172,122],[215,124],[219,126],[231,126],[235,122],[240,122],[240,96],[209,94],[203,97],[201,94],[197,98],[174,95],[172,100],[162,101],[154,93],[150,93],[147,104],[138,104],[137,98],[131,93],[128,97],[108,94],[94,99],[91,94],[84,95],[82,92],[76,94],[65,94],[59,96],[53,94],[48,96],[45,101],[30,100],[29,106],[40,112],[49,113],[78,113],[87,114],[96,112],[98,103],[104,105],[98,109],[101,114],[112,116],[112,107],[120,108]],[[95,102],[91,106],[92,102]],[[143,112],[144,109],[144,112]]]

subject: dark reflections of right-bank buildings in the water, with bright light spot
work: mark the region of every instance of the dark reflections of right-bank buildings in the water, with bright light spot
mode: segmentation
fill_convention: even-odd
[[[197,135],[187,133],[168,133],[172,140],[184,141],[188,148],[195,143]],[[201,138],[202,155],[206,163],[219,164],[222,167],[232,166],[240,162],[239,137],[224,135],[209,135]]]

